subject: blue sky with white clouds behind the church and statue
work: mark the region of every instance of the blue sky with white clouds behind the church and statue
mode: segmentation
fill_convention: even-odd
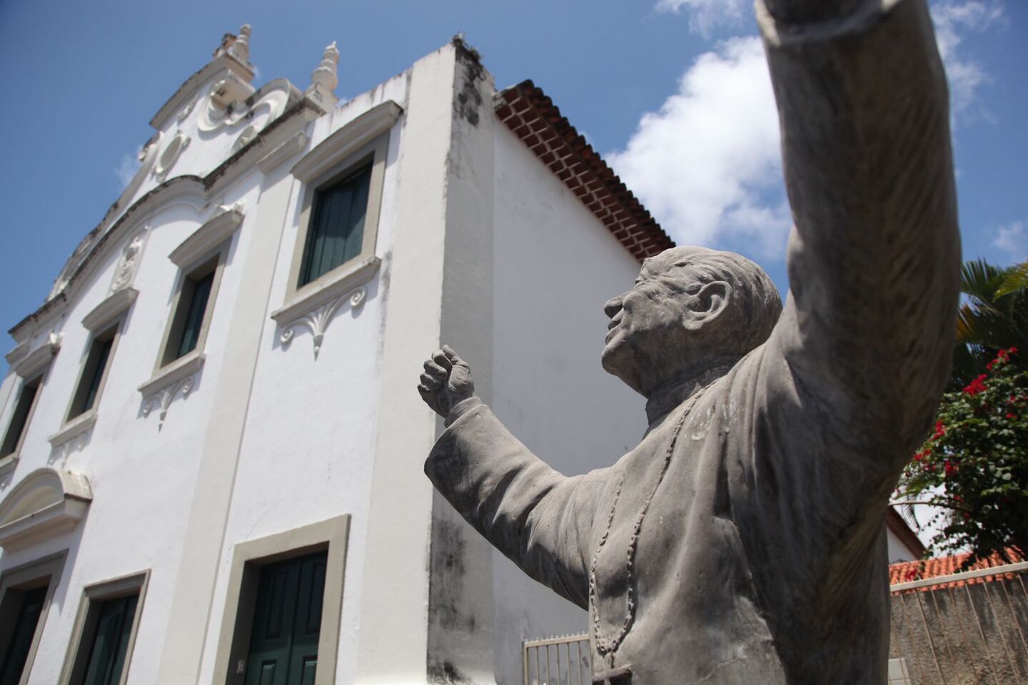
[[[784,291],[788,215],[750,6],[0,0],[0,326],[42,303],[119,194],[150,117],[244,23],[256,85],[285,76],[306,87],[335,40],[343,98],[463,32],[499,86],[542,86],[680,243],[743,253]],[[1024,261],[1028,3],[942,0],[932,11],[953,91],[964,258]]]

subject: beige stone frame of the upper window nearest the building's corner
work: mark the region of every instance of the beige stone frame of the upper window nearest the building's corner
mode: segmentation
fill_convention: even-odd
[[[296,240],[293,248],[293,260],[289,269],[289,281],[286,292],[287,307],[294,301],[304,299],[308,294],[318,292],[330,283],[343,280],[375,254],[378,237],[378,222],[381,215],[382,186],[386,177],[386,160],[389,153],[389,130],[379,134],[357,150],[332,163],[325,172],[318,174],[309,183],[305,183],[300,204],[300,216],[297,222]],[[334,269],[326,271],[317,278],[299,284],[303,268],[303,256],[307,239],[310,235],[310,222],[315,215],[315,199],[318,192],[330,188],[353,176],[367,164],[371,165],[371,178],[368,182],[368,204],[364,214],[364,233],[361,236],[361,252],[346,260]]]

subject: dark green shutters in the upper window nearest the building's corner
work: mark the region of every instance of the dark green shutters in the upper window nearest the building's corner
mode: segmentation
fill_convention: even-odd
[[[302,287],[361,254],[371,166],[315,193],[300,268]]]

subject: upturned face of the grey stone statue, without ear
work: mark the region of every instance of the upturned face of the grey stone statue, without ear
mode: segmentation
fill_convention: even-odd
[[[675,257],[664,253],[646,260],[635,287],[603,305],[611,318],[603,369],[645,395],[656,367],[674,374],[689,356],[691,296],[684,292],[689,274],[685,261]]]

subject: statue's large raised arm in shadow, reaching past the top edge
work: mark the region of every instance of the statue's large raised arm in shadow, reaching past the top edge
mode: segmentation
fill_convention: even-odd
[[[947,379],[959,279],[931,20],[921,0],[763,0],[758,20],[795,220],[772,344],[841,430],[888,437],[898,474]]]

